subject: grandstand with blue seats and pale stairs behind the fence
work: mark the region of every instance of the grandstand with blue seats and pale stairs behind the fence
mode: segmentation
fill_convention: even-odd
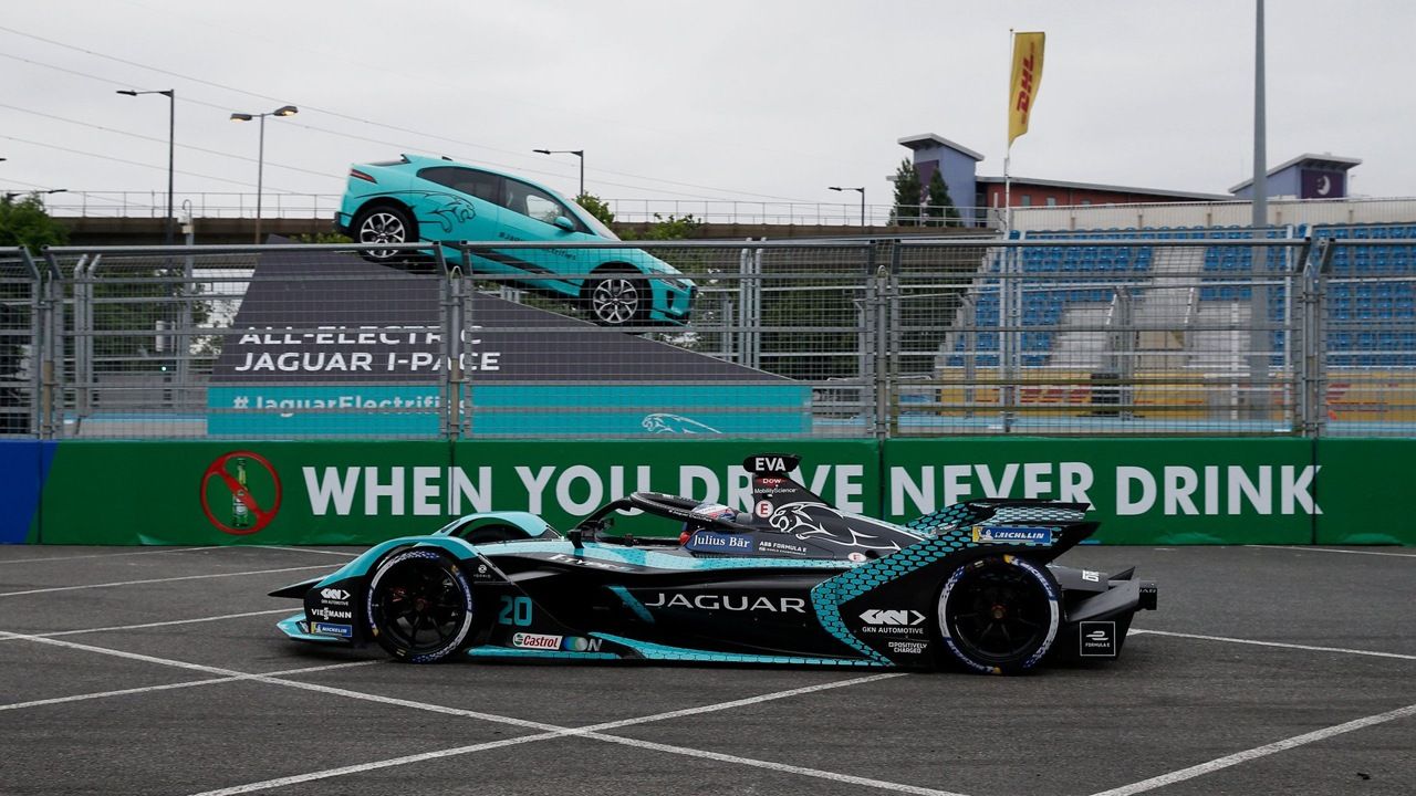
[[[1416,423],[1410,203],[1280,201],[1273,212],[1290,222],[1259,235],[1233,222],[1087,225],[1228,221],[1235,204],[1247,207],[1015,210],[936,357],[942,412],[1039,431],[1079,416],[1266,433]]]

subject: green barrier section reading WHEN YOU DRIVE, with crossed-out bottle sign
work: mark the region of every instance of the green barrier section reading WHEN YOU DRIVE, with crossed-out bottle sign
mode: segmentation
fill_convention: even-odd
[[[566,528],[639,489],[724,500],[742,460],[789,449],[803,480],[841,506],[879,511],[874,442],[65,442],[30,538],[47,544],[371,544],[449,517],[523,510]],[[239,462],[239,465],[238,465]],[[245,470],[249,523],[234,490]],[[626,533],[673,533],[624,517]]]

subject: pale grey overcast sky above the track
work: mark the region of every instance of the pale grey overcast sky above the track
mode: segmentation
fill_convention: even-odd
[[[1045,31],[1012,173],[1225,193],[1250,176],[1247,0],[44,0],[0,16],[0,188],[338,194],[350,163],[446,154],[605,198],[889,201],[937,133],[1001,174],[1008,28]],[[1416,195],[1416,3],[1267,1],[1269,164],[1362,159]],[[268,194],[269,195],[269,194]],[[58,200],[59,197],[54,197]],[[848,204],[858,197],[851,194]],[[272,201],[268,198],[268,203]],[[954,197],[957,204],[969,204]]]

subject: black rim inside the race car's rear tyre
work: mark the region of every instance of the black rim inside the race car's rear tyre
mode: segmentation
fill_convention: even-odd
[[[980,663],[1027,657],[1046,640],[1051,626],[1048,593],[1017,567],[967,571],[949,599],[950,637]]]

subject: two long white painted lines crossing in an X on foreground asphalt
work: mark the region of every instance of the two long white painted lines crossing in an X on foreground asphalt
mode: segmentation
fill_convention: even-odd
[[[888,680],[888,678],[892,678],[892,677],[903,677],[905,676],[903,673],[872,674],[872,676],[867,676],[867,677],[854,677],[854,678],[850,678],[850,680],[837,680],[837,681],[833,681],[833,683],[821,683],[821,684],[817,684],[817,686],[806,686],[806,687],[801,687],[801,688],[790,688],[790,690],[786,690],[786,691],[775,691],[775,693],[770,693],[770,694],[759,694],[756,697],[748,697],[748,698],[743,698],[743,700],[732,700],[732,701],[728,701],[728,703],[718,703],[718,704],[711,704],[711,705],[701,705],[701,707],[697,707],[697,708],[684,708],[684,710],[668,711],[668,712],[661,712],[661,714],[654,714],[654,715],[647,715],[647,717],[640,717],[640,718],[620,720],[620,721],[607,721],[607,722],[602,722],[602,724],[592,724],[589,727],[559,727],[559,725],[555,725],[555,724],[547,724],[547,722],[541,722],[541,721],[528,721],[528,720],[521,720],[521,718],[513,718],[513,717],[504,717],[504,715],[496,715],[496,714],[486,714],[486,712],[479,712],[479,711],[469,711],[469,710],[463,710],[463,708],[450,708],[450,707],[446,707],[446,705],[436,705],[436,704],[430,704],[430,703],[416,703],[416,701],[412,701],[412,700],[399,700],[399,698],[395,698],[395,697],[382,697],[382,695],[378,695],[378,694],[365,694],[365,693],[361,693],[361,691],[350,691],[347,688],[336,688],[336,687],[331,687],[331,686],[320,686],[317,683],[302,683],[299,680],[283,680],[283,678],[272,676],[272,674],[249,674],[249,673],[235,671],[235,670],[229,670],[229,669],[219,669],[219,667],[215,667],[215,666],[202,666],[202,664],[197,664],[197,663],[187,663],[187,661],[171,660],[171,659],[161,659],[161,657],[146,656],[146,654],[140,654],[140,653],[129,653],[129,652],[112,650],[112,649],[106,649],[106,647],[95,647],[92,644],[79,644],[79,643],[75,643],[75,642],[61,642],[58,639],[47,639],[47,637],[42,637],[42,636],[28,636],[28,635],[23,635],[23,633],[3,633],[3,632],[0,632],[0,637],[4,637],[4,636],[20,637],[20,639],[30,640],[30,642],[37,642],[37,643],[41,643],[41,644],[54,644],[54,646],[78,649],[78,650],[85,650],[85,652],[95,652],[95,653],[101,653],[101,654],[110,654],[110,656],[123,657],[123,659],[129,659],[129,660],[140,660],[140,661],[146,661],[146,663],[156,663],[156,664],[161,664],[161,666],[176,666],[178,669],[187,669],[187,670],[191,670],[191,671],[205,671],[208,674],[219,674],[219,676],[224,676],[224,677],[228,677],[228,678],[241,678],[241,680],[249,680],[249,681],[256,681],[256,683],[269,683],[269,684],[273,684],[273,686],[287,686],[287,687],[300,688],[300,690],[304,690],[304,691],[317,691],[317,693],[323,693],[323,694],[333,694],[333,695],[348,697],[348,698],[354,698],[354,700],[364,700],[364,701],[379,703],[379,704],[387,704],[387,705],[406,707],[406,708],[413,708],[413,710],[423,710],[423,711],[439,712],[439,714],[445,714],[445,715],[459,715],[459,717],[466,717],[466,718],[477,718],[477,720],[481,720],[481,721],[491,721],[491,722],[497,722],[497,724],[508,724],[508,725],[513,725],[513,727],[523,727],[523,728],[542,729],[544,731],[544,732],[537,734],[537,735],[527,735],[527,737],[521,737],[521,738],[507,738],[504,741],[493,741],[493,742],[489,742],[489,744],[474,744],[472,746],[457,746],[457,748],[453,748],[453,749],[439,749],[439,751],[433,751],[433,752],[423,752],[421,755],[408,755],[408,756],[394,758],[394,759],[388,759],[388,761],[375,761],[375,762],[370,762],[370,763],[361,763],[361,765],[354,765],[354,766],[343,766],[343,768],[337,768],[337,769],[324,769],[324,771],[309,772],[309,773],[296,775],[296,776],[286,776],[286,778],[280,778],[280,779],[270,779],[270,780],[263,780],[263,782],[252,782],[252,783],[238,785],[238,786],[234,786],[234,788],[225,788],[225,789],[219,789],[219,790],[208,790],[208,792],[202,793],[201,796],[234,796],[236,793],[251,793],[251,792],[255,792],[255,790],[266,790],[266,789],[270,789],[270,788],[282,788],[282,786],[286,786],[286,785],[296,785],[296,783],[302,783],[302,782],[313,782],[313,780],[317,780],[317,779],[329,779],[329,778],[334,778],[334,776],[344,776],[344,775],[350,775],[350,773],[358,773],[358,772],[382,769],[382,768],[392,768],[392,766],[408,765],[408,763],[415,763],[415,762],[422,762],[422,761],[429,761],[429,759],[436,759],[436,758],[447,758],[447,756],[455,756],[455,755],[464,755],[464,754],[484,751],[484,749],[494,749],[494,748],[498,748],[498,746],[510,746],[510,745],[515,745],[515,744],[530,744],[530,742],[534,742],[534,741],[549,741],[552,738],[566,738],[566,737],[593,738],[596,741],[606,741],[606,742],[610,742],[610,744],[620,744],[620,745],[624,745],[624,746],[637,746],[637,748],[641,748],[641,749],[653,749],[653,751],[667,752],[667,754],[674,754],[674,755],[685,755],[685,756],[691,756],[691,758],[704,758],[704,759],[712,759],[712,761],[721,761],[721,762],[732,762],[732,763],[738,763],[738,765],[748,765],[748,766],[755,766],[755,768],[772,769],[772,771],[782,771],[782,772],[787,772],[787,773],[796,773],[796,775],[800,775],[800,776],[811,776],[811,778],[817,778],[817,779],[828,779],[828,780],[833,780],[833,782],[847,782],[847,783],[851,783],[851,785],[861,785],[861,786],[867,786],[867,788],[878,788],[878,789],[891,790],[891,792],[895,792],[895,793],[916,793],[916,795],[920,795],[920,796],[960,796],[960,795],[952,793],[949,790],[936,790],[936,789],[929,789],[929,788],[918,788],[918,786],[912,786],[912,785],[903,785],[903,783],[898,783],[898,782],[885,782],[885,780],[878,780],[878,779],[867,779],[867,778],[861,778],[861,776],[851,776],[851,775],[837,773],[837,772],[830,772],[830,771],[818,771],[818,769],[803,768],[803,766],[792,766],[792,765],[777,763],[777,762],[772,762],[772,761],[759,761],[759,759],[753,759],[753,758],[739,758],[739,756],[735,756],[735,755],[724,755],[724,754],[718,754],[718,752],[708,752],[708,751],[704,751],[704,749],[687,749],[687,748],[680,748],[680,746],[668,746],[668,745],[664,745],[664,744],[654,744],[651,741],[639,741],[639,739],[634,739],[634,738],[620,738],[617,735],[605,735],[605,734],[599,732],[602,729],[616,729],[616,728],[620,728],[620,727],[632,727],[632,725],[637,725],[637,724],[647,724],[647,722],[651,722],[651,721],[663,721],[663,720],[668,720],[668,718],[680,718],[680,717],[697,715],[697,714],[704,714],[704,712],[715,712],[715,711],[721,711],[721,710],[729,710],[729,708],[749,705],[749,704],[766,703],[766,701],[772,701],[772,700],[782,700],[782,698],[786,698],[786,697],[794,697],[794,695],[809,694],[809,693],[814,693],[814,691],[824,691],[824,690],[830,690],[830,688],[843,688],[843,687],[847,687],[847,686],[857,686],[857,684],[861,684],[861,683],[874,683],[874,681],[878,681],[878,680]]]

